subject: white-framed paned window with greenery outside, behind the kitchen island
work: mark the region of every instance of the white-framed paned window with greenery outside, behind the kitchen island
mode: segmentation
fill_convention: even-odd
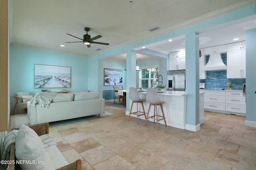
[[[140,87],[147,89],[149,87],[156,88],[158,80],[159,66],[140,67]]]

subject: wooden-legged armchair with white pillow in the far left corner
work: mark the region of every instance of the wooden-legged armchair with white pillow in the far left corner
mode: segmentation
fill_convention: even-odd
[[[13,96],[16,98],[16,102],[12,111],[12,114],[14,114],[16,108],[27,108],[27,102],[30,101],[33,96],[29,94],[29,92],[17,92],[16,96]]]

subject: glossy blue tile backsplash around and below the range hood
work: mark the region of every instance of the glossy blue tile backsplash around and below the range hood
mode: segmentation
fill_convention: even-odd
[[[206,63],[209,60],[210,55],[206,55]],[[221,55],[224,64],[227,65],[227,54]],[[206,79],[200,80],[200,83],[205,83],[205,89],[216,90],[228,89],[227,82],[232,82],[232,90],[242,90],[245,78],[227,78],[227,71],[207,71]]]

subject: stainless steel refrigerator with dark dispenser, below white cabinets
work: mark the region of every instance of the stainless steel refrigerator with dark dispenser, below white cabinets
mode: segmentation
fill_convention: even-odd
[[[167,90],[185,91],[186,70],[167,72]]]

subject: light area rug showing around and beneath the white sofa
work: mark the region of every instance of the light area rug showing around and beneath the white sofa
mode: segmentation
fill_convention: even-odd
[[[105,113],[100,114],[100,117],[113,115],[113,114],[114,113],[105,111]],[[50,122],[49,124],[50,126],[58,126],[58,125],[64,125],[67,123],[74,123],[78,121],[85,121],[85,120],[96,119],[96,118],[98,118],[98,115],[91,115],[91,116],[78,117],[78,118],[62,120],[62,121],[54,121],[54,122]],[[30,126],[30,122],[28,120],[27,114],[11,115],[11,129],[20,128],[20,125],[22,124]]]

